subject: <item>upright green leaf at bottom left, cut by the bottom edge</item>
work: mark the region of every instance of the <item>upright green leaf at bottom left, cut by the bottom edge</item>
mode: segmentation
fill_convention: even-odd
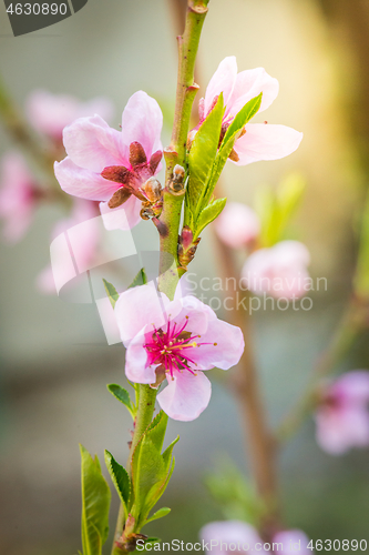
[[[101,555],[109,534],[111,493],[101,473],[98,456],[80,445],[82,460],[82,547],[83,555]]]

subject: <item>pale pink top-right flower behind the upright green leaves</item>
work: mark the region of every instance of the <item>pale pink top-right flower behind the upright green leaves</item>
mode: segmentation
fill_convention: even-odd
[[[263,92],[259,108],[259,112],[263,112],[276,99],[278,90],[278,81],[268,75],[264,68],[237,73],[236,58],[234,56],[225,58],[212,77],[205,98],[199,101],[199,122],[205,120],[217,97],[223,92],[226,110],[222,131],[225,133],[234,117],[249,100]],[[230,157],[238,165],[287,157],[295,152],[303,139],[303,133],[286,125],[247,123],[245,131],[235,142]]]

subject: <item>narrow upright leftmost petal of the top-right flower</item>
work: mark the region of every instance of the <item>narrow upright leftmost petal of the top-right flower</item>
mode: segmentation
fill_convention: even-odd
[[[218,65],[218,69],[212,77],[205,93],[204,101],[204,113],[207,115],[209,111],[213,100],[215,97],[219,95],[223,92],[224,104],[227,105],[237,75],[237,62],[235,56],[229,56],[225,58]]]

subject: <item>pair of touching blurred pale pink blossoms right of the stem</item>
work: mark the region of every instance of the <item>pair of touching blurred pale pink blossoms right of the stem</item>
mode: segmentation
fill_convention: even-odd
[[[280,241],[258,249],[260,221],[250,208],[237,202],[225,206],[215,225],[225,244],[250,251],[242,269],[242,279],[249,291],[287,299],[298,299],[306,293],[310,254],[303,243]]]

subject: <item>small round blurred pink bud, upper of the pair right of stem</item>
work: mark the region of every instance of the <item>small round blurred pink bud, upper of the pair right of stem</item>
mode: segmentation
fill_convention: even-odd
[[[242,249],[258,236],[260,222],[250,208],[239,202],[227,202],[215,220],[215,230],[226,245]]]

